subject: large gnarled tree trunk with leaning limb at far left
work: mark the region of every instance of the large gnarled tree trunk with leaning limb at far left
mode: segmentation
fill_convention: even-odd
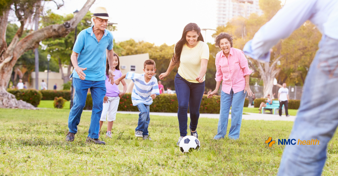
[[[0,16],[0,107],[1,108],[25,108],[32,109],[31,104],[17,101],[15,96],[6,91],[13,67],[21,55],[29,49],[39,46],[41,40],[47,38],[65,37],[86,15],[95,0],[87,0],[82,9],[68,22],[59,25],[49,25],[42,29],[32,32],[23,39],[20,37],[23,33],[26,20],[21,20],[21,26],[15,34],[13,40],[7,47],[6,44],[6,28],[8,21],[9,9]],[[16,13],[17,14],[17,13]],[[18,14],[17,14],[18,16]],[[18,16],[19,18],[19,16]],[[27,17],[28,18],[28,17]],[[27,19],[26,18],[26,19]],[[19,20],[22,18],[19,18]]]

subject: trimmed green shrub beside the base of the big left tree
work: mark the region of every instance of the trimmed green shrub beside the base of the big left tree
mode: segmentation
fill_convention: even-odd
[[[13,94],[17,100],[22,100],[37,107],[40,104],[42,94],[35,89],[8,89],[7,92]]]

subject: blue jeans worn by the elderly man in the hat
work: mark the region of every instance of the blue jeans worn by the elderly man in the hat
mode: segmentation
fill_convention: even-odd
[[[89,81],[73,77],[73,86],[75,96],[74,105],[70,110],[68,117],[69,132],[77,133],[77,126],[80,123],[82,110],[86,105],[88,89],[90,89],[93,99],[93,110],[88,137],[97,139],[99,138],[99,121],[103,108],[103,98],[106,93],[105,81]]]

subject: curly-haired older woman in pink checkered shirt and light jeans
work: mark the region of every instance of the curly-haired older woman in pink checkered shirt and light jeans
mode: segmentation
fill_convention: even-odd
[[[246,92],[252,96],[249,87],[249,75],[252,70],[248,67],[244,53],[240,49],[233,48],[233,41],[230,34],[222,32],[216,37],[215,45],[222,49],[216,55],[216,89],[208,95],[211,98],[218,92],[222,82],[221,110],[218,120],[217,135],[214,139],[224,138],[228,117],[231,109],[231,127],[229,137],[239,138],[242,123],[242,114]]]

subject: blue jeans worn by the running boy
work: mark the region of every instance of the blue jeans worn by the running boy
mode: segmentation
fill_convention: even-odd
[[[137,107],[139,108],[140,114],[139,114],[139,122],[137,124],[135,131],[142,131],[143,136],[149,135],[148,132],[148,126],[150,122],[149,105],[139,104],[137,105]]]

